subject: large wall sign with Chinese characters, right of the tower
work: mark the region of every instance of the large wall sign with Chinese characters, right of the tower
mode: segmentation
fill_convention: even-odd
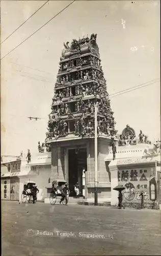
[[[138,202],[141,200],[141,192],[146,202],[156,200],[154,168],[118,169],[118,184],[125,186],[123,190],[125,201]]]

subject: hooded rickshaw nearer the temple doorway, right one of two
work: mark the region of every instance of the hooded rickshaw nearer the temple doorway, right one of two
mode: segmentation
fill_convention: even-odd
[[[63,188],[63,186],[65,186],[66,183],[67,182],[65,180],[57,179],[52,181],[52,190],[49,197],[50,204],[52,205],[55,204],[57,201],[57,198],[61,199],[62,197],[61,189]],[[68,203],[68,200],[69,200],[69,194],[67,194],[67,201],[63,200],[62,204],[66,205]]]

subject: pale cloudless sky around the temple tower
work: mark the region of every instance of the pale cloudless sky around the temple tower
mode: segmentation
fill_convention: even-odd
[[[1,44],[1,58],[72,1],[49,1]],[[1,42],[45,1],[1,1]],[[160,80],[159,1],[75,1],[1,60],[2,155],[44,142],[64,42],[97,33],[107,90]],[[118,133],[129,124],[160,138],[160,82],[111,98]],[[40,117],[30,120],[28,117]]]

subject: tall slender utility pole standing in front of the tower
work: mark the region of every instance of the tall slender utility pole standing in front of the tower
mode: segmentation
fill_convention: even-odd
[[[95,171],[95,178],[94,178],[94,205],[98,205],[98,194],[97,194],[97,172],[98,172],[98,158],[97,158],[97,104],[95,102],[94,106],[94,171]]]

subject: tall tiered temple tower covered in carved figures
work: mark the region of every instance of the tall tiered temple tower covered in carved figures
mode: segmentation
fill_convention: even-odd
[[[94,197],[94,104],[98,105],[98,198],[111,196],[110,173],[104,158],[114,141],[114,112],[103,76],[97,34],[64,44],[55,94],[49,114],[46,145],[51,148],[51,178],[66,180],[69,189],[78,181],[86,198]],[[71,196],[73,194],[71,193]]]

